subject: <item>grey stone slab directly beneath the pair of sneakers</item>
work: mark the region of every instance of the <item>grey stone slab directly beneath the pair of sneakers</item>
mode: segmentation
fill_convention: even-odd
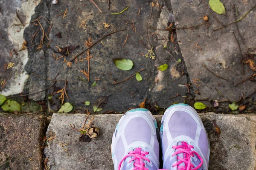
[[[112,134],[122,115],[95,115],[93,126],[99,127],[99,136],[90,142],[79,142],[80,133],[70,131],[70,124],[80,128],[85,114],[54,113],[47,129],[47,137],[57,136],[49,142],[44,156],[49,158],[51,170],[113,170],[111,159]],[[201,113],[209,134],[211,151],[209,170],[254,170],[256,168],[256,124],[249,117]],[[160,126],[162,116],[155,116]],[[216,134],[212,120],[221,129]],[[67,153],[57,143],[70,143]],[[239,148],[238,148],[238,147]]]

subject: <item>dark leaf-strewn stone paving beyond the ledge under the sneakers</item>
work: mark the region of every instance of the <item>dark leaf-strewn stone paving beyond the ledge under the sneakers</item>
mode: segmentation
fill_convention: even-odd
[[[224,24],[241,17],[254,5],[253,1],[245,5],[239,0],[225,0],[223,3],[227,15],[214,14]],[[185,101],[192,104],[194,99],[237,102],[242,94],[247,97],[255,91],[255,83],[250,80],[234,87],[237,82],[254,73],[247,65],[244,65],[245,75],[242,74],[239,48],[233,32],[239,40],[243,57],[246,57],[247,51],[238,35],[236,25],[233,24],[227,28],[213,31],[214,28],[221,25],[212,17],[200,0],[182,2],[179,0],[159,0],[152,9],[152,13],[151,1],[127,1],[125,3],[113,1],[110,9],[108,9],[108,3],[105,1],[96,1],[96,4],[102,13],[87,0],[81,2],[59,0],[56,5],[53,5],[50,0],[41,1],[41,3],[32,0],[24,2],[5,0],[1,2],[0,20],[3,26],[0,28],[0,63],[2,65],[0,67],[0,79],[8,81],[6,87],[0,89],[1,94],[9,96],[21,92],[23,94],[35,93],[52,85],[52,82],[35,77],[32,73],[48,79],[54,79],[58,74],[57,79],[67,79],[69,99],[65,98],[65,102],[73,102],[76,108],[82,110],[85,107],[83,101],[90,101],[93,104],[100,96],[111,95],[102,113],[126,111],[128,108],[137,107],[145,98],[148,99],[148,102],[150,101],[151,105],[155,105],[157,102],[160,108],[166,108],[174,102]],[[239,13],[236,17],[233,14],[233,4],[239,7]],[[111,14],[111,12],[122,11],[127,6],[129,6],[128,10],[122,14]],[[58,16],[58,14],[61,14],[66,8],[68,10],[67,16],[63,19],[63,15]],[[137,15],[139,8],[140,15]],[[203,22],[202,19],[198,20],[198,18],[205,14],[208,15],[209,23],[211,23],[209,28],[199,26],[195,29],[178,29],[177,35],[174,34],[175,43],[170,42],[169,37],[172,34],[169,31],[150,28],[153,26],[157,29],[165,29],[173,20],[176,28],[198,25]],[[252,10],[238,22],[239,30],[248,48],[255,48],[255,27],[253,27],[255,14],[255,10]],[[52,40],[51,48],[47,48],[49,40],[44,36],[44,45],[41,50],[35,52],[38,48],[37,45],[19,51],[24,40],[28,42],[27,47],[39,43],[42,38],[42,31],[40,26],[35,25],[37,22],[25,26],[15,26],[15,24],[20,24],[17,16],[22,23],[36,20],[38,17],[47,18],[53,24],[47,36],[49,40]],[[149,19],[150,16],[151,19]],[[136,32],[131,26],[132,20]],[[86,27],[79,27],[82,21],[85,21]],[[40,23],[47,33],[49,23],[43,18],[40,19]],[[108,30],[104,28],[103,23],[110,25]],[[90,49],[92,56],[90,59],[90,82],[86,83],[77,79],[77,77],[86,79],[85,75],[80,72],[84,68],[87,69],[87,61],[84,60],[84,56],[79,57],[79,60],[83,59],[84,61],[78,61],[77,64],[73,61],[71,68],[67,66],[64,59],[70,61],[73,56],[83,51],[86,48],[84,42],[88,38],[91,37],[92,42],[96,42],[103,35],[122,28],[126,28],[125,31],[112,34],[102,40],[104,45],[99,42]],[[36,31],[38,34],[31,42]],[[61,38],[56,36],[59,33],[61,33]],[[129,37],[123,47],[127,34]],[[193,48],[196,43],[202,50]],[[62,54],[60,53],[63,53],[63,51],[58,53],[56,46],[65,48],[69,45],[77,45],[78,47],[70,52],[70,55],[67,56],[67,51],[65,51],[63,58],[54,59],[54,53],[56,57],[57,55],[61,57]],[[155,53],[154,60],[145,58],[141,54],[147,54],[151,45]],[[165,45],[166,48],[164,49]],[[14,54],[11,58],[9,50],[12,51],[12,49],[15,49],[18,55]],[[253,56],[253,51],[251,53]],[[118,57],[131,59],[134,62],[133,68],[130,71],[122,71],[117,68],[112,59]],[[181,62],[177,62],[179,60]],[[15,62],[14,68],[4,71],[3,65],[8,62]],[[168,70],[157,71],[157,67],[162,64],[168,64]],[[216,77],[207,71],[202,64],[216,75],[229,81]],[[143,81],[137,82],[134,77],[126,82],[111,85],[113,82],[121,81],[143,68],[145,71],[140,73]],[[100,80],[93,87],[95,79]],[[198,88],[193,79],[200,79],[197,82],[200,85]],[[189,85],[189,82],[192,86],[188,90],[185,83]],[[29,99],[35,101],[47,99],[48,94],[51,94],[53,90],[56,92],[63,87],[64,82],[56,82],[54,88],[29,96]],[[176,98],[169,99],[177,94],[179,96]],[[59,94],[55,94],[55,98],[58,96]],[[90,110],[92,110],[91,106],[89,107]]]

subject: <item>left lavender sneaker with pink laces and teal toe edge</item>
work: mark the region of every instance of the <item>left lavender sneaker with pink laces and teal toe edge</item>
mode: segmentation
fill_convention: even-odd
[[[116,125],[111,154],[115,170],[157,170],[160,135],[147,109],[126,112]]]

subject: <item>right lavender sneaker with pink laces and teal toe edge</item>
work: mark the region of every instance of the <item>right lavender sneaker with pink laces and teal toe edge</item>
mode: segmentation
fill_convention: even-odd
[[[164,113],[160,127],[163,169],[208,170],[209,139],[198,113],[176,104]]]

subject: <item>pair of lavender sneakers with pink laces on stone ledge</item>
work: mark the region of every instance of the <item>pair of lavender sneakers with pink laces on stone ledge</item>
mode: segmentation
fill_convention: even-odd
[[[176,104],[164,113],[160,131],[147,109],[126,112],[116,125],[111,154],[115,170],[208,170],[209,139],[198,113]]]

